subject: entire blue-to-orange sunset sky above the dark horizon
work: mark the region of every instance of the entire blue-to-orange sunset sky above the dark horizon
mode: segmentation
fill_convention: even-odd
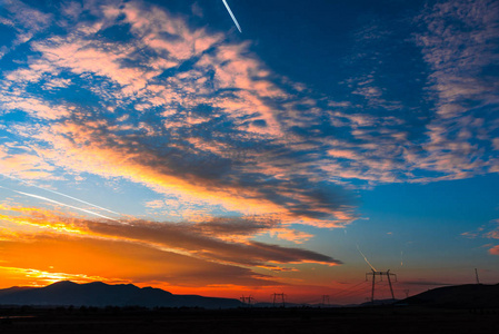
[[[0,288],[498,283],[499,3],[227,3],[0,0]]]

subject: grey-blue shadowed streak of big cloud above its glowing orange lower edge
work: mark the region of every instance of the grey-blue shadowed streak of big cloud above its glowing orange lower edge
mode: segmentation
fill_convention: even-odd
[[[196,125],[184,125],[172,137],[167,129],[148,136],[142,130],[121,132],[107,115],[97,118],[99,121],[93,120],[94,114],[91,119],[73,115],[62,124],[61,135],[70,137],[74,148],[84,150],[91,146],[102,151],[119,151],[137,168],[154,170],[166,178],[180,178],[207,190],[236,191],[242,198],[268,200],[297,218],[335,220],[335,212],[355,203],[353,196],[340,186],[303,175],[300,168],[308,174],[307,166],[313,164],[310,153],[296,153],[280,143],[261,140],[259,144],[258,138],[241,138],[240,130],[223,119],[210,118],[203,124],[207,127],[203,131]],[[217,135],[219,121],[223,122],[227,135]],[[140,122],[151,128],[161,124],[156,119],[149,122],[147,117]],[[218,145],[223,149],[210,150]],[[267,164],[268,169],[261,164]],[[276,171],[282,175],[275,178]]]

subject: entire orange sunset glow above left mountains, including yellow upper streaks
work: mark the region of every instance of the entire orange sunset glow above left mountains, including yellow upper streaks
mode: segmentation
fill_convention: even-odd
[[[239,297],[244,292],[260,294],[263,299],[297,284],[303,295],[316,288],[301,288],[303,274],[295,265],[290,266],[291,263],[269,261],[269,265],[250,268],[233,265],[230,261],[206,258],[200,249],[170,249],[167,245],[141,239],[147,237],[141,229],[133,238],[127,232],[133,226],[127,224],[63,217],[59,212],[32,207],[2,206],[0,209],[6,213],[0,219],[16,227],[16,230],[7,227],[0,230],[0,256],[3,259],[0,287],[43,286],[63,279],[77,283],[101,281],[154,286],[176,294]],[[106,228],[102,232],[94,229],[100,224],[111,234],[107,234]],[[287,229],[279,232],[287,233]],[[307,262],[300,263],[308,266]],[[316,262],[315,265],[328,267],[333,264],[321,266]]]

